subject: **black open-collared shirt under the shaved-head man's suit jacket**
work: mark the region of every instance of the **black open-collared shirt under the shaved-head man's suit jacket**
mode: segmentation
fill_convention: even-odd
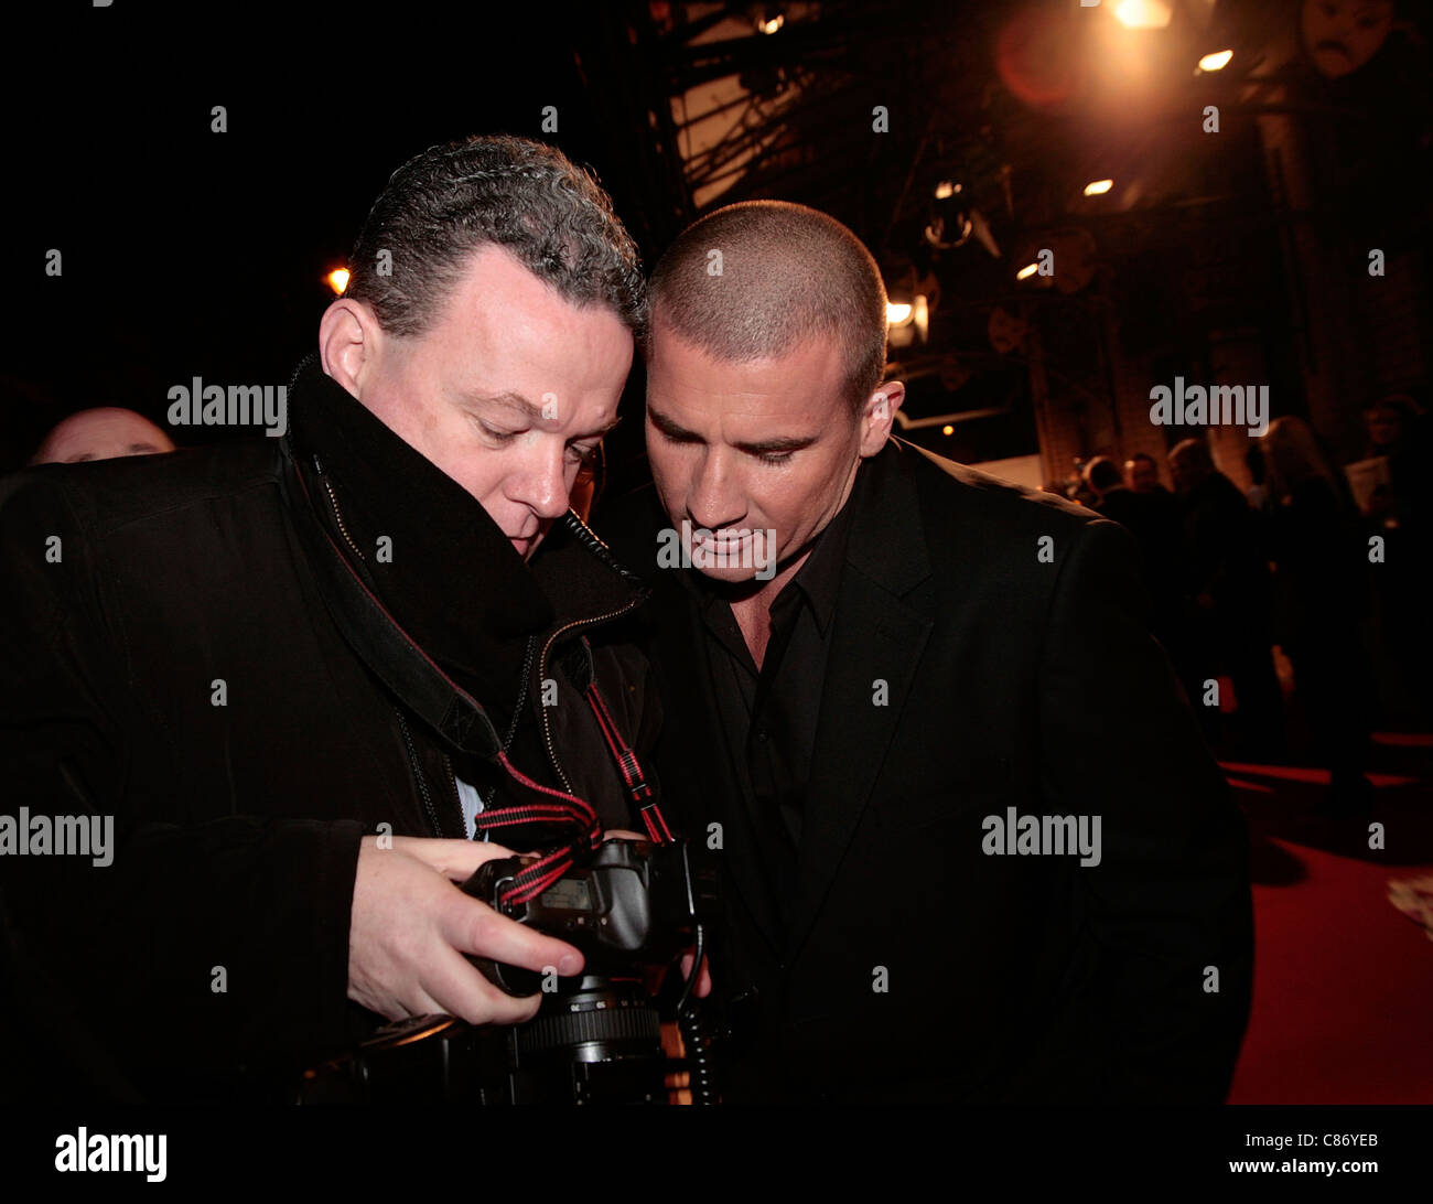
[[[698,595],[727,751],[784,912],[794,899],[811,752],[857,486],[768,608],[771,639],[759,671],[721,585],[696,570],[682,573]]]

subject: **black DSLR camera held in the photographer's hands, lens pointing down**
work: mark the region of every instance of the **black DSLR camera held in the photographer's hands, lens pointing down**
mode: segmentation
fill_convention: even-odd
[[[385,1025],[350,1056],[304,1075],[298,1102],[665,1104],[682,1064],[662,1048],[649,990],[685,949],[695,957],[675,1010],[694,1102],[715,1102],[711,1041],[692,989],[716,907],[715,873],[694,870],[678,840],[612,838],[540,889],[516,890],[542,859],[487,861],[463,890],[582,950],[583,972],[559,978],[470,957],[509,995],[542,993],[523,1025],[473,1026],[451,1016]]]

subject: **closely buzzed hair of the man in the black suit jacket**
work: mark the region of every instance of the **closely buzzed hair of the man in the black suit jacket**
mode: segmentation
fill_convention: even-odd
[[[701,218],[658,261],[648,301],[653,322],[727,363],[834,338],[857,414],[886,374],[880,268],[850,229],[805,205],[742,201]]]

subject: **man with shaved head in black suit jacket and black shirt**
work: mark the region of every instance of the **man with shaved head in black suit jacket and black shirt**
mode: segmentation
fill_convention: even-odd
[[[824,214],[702,218],[651,311],[655,490],[605,533],[725,884],[727,1098],[1222,1099],[1247,838],[1129,535],[891,434],[881,275]]]

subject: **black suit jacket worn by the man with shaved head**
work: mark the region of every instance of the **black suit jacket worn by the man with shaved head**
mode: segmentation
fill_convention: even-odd
[[[1247,836],[1145,631],[1128,532],[898,440],[854,490],[788,929],[685,569],[652,572],[668,811],[719,846],[727,887],[727,1098],[1222,1099],[1250,1008]],[[668,519],[649,502],[615,523],[619,558],[652,568]],[[987,854],[1010,807],[1101,816],[1099,864]]]

